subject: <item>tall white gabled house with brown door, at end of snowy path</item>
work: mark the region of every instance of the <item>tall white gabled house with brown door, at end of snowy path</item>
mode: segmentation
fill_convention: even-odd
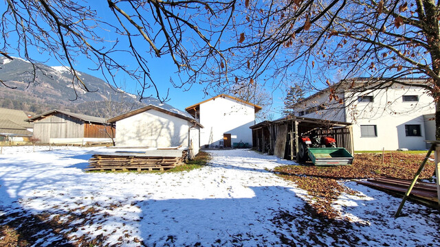
[[[250,126],[255,124],[255,113],[261,110],[249,102],[229,95],[217,95],[185,110],[203,126],[201,146],[232,148],[252,145]]]

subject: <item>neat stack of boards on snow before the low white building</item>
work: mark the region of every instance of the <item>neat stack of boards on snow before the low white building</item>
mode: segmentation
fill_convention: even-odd
[[[159,170],[164,171],[184,163],[187,150],[180,152],[115,152],[113,154],[94,154],[89,159],[87,171],[93,170]]]

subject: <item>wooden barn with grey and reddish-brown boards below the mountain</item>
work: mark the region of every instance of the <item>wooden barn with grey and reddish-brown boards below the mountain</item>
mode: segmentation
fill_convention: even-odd
[[[112,143],[115,128],[106,119],[65,110],[50,110],[29,119],[34,122],[34,138],[40,143],[87,145]]]

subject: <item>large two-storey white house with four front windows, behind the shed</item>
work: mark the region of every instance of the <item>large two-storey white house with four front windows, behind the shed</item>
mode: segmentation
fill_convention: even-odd
[[[426,149],[435,139],[434,102],[420,86],[426,80],[388,80],[341,81],[295,104],[294,115],[353,123],[355,150]]]

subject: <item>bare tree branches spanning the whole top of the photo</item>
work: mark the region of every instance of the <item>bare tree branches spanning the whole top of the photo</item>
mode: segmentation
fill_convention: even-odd
[[[316,91],[318,82],[332,87],[338,86],[335,77],[358,76],[380,89],[399,78],[424,77],[418,86],[436,102],[440,126],[438,1],[108,0],[104,9],[111,19],[99,19],[100,12],[83,1],[6,3],[3,51],[32,60],[29,51],[36,47],[66,63],[76,75],[72,83],[86,90],[75,70],[78,56],[96,62],[114,84],[116,71],[125,71],[140,83],[140,95],[151,87],[159,99],[148,54],[173,61],[181,79],[175,86],[201,83],[207,94],[254,84],[276,89],[293,79]],[[113,43],[100,38],[102,30],[116,35]],[[8,36],[19,43],[8,43]],[[130,70],[118,53],[138,67]]]

